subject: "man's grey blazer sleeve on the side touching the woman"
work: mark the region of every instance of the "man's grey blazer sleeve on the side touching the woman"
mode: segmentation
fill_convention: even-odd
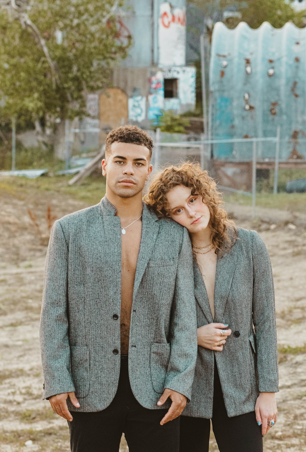
[[[164,387],[186,395],[190,400],[197,353],[196,300],[191,245],[185,228],[178,258],[170,331],[171,354]]]

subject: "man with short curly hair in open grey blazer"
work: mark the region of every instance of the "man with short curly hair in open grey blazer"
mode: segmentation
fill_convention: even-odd
[[[175,452],[191,396],[196,305],[188,233],[142,201],[153,141],[106,138],[106,194],[56,221],[45,268],[43,399],[67,419],[72,452]],[[169,422],[172,420],[172,422]]]

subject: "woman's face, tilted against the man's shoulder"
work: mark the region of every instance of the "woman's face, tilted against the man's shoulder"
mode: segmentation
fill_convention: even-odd
[[[210,220],[209,208],[199,195],[192,195],[191,188],[177,185],[166,195],[172,220],[185,226],[191,234],[203,231]]]

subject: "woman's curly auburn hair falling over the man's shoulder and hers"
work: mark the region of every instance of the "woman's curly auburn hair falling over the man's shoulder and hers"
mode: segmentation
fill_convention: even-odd
[[[184,162],[179,166],[168,166],[156,174],[144,197],[148,207],[151,207],[159,218],[170,217],[167,193],[177,185],[191,188],[192,195],[200,195],[209,208],[211,241],[215,253],[222,255],[230,250],[237,238],[237,226],[228,217],[223,205],[222,194],[217,190],[216,183],[207,171],[203,171],[198,163]]]

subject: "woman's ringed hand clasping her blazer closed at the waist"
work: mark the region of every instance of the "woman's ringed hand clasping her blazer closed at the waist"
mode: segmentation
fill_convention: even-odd
[[[208,325],[200,326],[197,330],[198,345],[222,352],[226,339],[232,332],[230,329],[224,330],[227,327],[228,325],[223,323],[209,323]],[[221,342],[222,345],[220,344]]]

